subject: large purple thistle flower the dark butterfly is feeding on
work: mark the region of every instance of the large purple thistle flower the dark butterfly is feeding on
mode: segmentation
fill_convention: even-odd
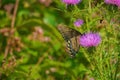
[[[80,45],[84,47],[97,46],[101,42],[101,37],[98,33],[86,33],[79,39]]]

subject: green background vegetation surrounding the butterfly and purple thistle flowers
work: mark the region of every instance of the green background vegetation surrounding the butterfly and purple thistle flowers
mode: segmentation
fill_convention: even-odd
[[[73,22],[84,24],[76,28]],[[101,44],[80,47],[75,58],[57,30],[99,32]],[[1,80],[119,80],[120,9],[103,0],[66,6],[60,0],[0,0]]]

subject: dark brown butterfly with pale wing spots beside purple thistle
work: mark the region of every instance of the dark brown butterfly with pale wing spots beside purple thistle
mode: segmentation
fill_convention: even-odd
[[[69,28],[63,24],[59,24],[57,28],[62,34],[64,40],[67,42],[67,49],[70,53],[70,56],[74,57],[79,51],[79,38],[82,34],[77,30]]]

